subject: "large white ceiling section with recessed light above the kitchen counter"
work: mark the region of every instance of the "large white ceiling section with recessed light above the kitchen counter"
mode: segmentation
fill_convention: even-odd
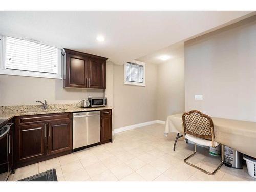
[[[122,65],[252,11],[0,11],[0,34],[108,57]],[[105,41],[96,41],[103,35]]]

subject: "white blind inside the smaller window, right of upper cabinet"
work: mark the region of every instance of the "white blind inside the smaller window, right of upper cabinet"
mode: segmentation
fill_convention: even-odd
[[[144,66],[137,63],[126,63],[126,82],[144,83]]]

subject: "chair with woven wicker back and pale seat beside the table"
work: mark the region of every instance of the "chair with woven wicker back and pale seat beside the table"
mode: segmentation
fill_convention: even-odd
[[[214,122],[210,116],[201,113],[200,111],[193,110],[182,115],[183,121],[183,136],[195,143],[194,153],[184,159],[184,162],[190,166],[193,166],[202,172],[214,175],[217,170],[223,165],[224,161],[224,145],[221,145],[221,164],[214,170],[214,172],[207,172],[206,170],[187,162],[187,159],[194,156],[197,152],[197,144],[217,147],[220,144],[214,141]]]

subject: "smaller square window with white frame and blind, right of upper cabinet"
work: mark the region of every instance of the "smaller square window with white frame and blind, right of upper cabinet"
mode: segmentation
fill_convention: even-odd
[[[127,62],[124,65],[124,84],[145,86],[145,63],[140,61]]]

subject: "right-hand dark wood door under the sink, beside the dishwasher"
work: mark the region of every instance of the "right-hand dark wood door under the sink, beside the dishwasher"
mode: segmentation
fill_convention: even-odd
[[[48,123],[48,155],[72,150],[72,121]]]

